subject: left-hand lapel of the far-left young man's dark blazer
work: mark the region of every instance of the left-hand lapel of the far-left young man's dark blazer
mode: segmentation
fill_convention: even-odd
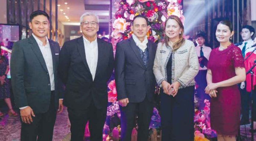
[[[46,63],[45,63],[45,59],[43,59],[43,54],[40,51],[40,48],[39,48],[35,38],[33,36],[31,36],[28,41],[29,41],[29,44],[31,44],[30,47],[31,47],[32,51],[36,54],[36,57],[38,58],[40,64],[45,69],[45,71],[48,72]]]

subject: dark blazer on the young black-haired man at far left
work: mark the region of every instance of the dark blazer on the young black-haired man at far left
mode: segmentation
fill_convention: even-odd
[[[57,66],[60,47],[49,39],[53,60],[55,108],[60,93]],[[14,43],[11,55],[11,84],[16,107],[30,106],[34,113],[44,113],[49,109],[51,98],[50,77],[45,60],[33,36]]]

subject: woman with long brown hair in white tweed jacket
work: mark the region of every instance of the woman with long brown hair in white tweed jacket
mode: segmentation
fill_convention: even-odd
[[[193,141],[194,78],[199,66],[195,45],[183,33],[181,20],[169,16],[154,60],[154,75],[161,87],[162,141]]]

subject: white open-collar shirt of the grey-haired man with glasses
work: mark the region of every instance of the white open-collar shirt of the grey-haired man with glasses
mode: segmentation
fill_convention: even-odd
[[[97,38],[94,41],[90,42],[85,37],[83,37],[83,44],[85,46],[86,62],[89,66],[90,73],[92,74],[92,80],[94,81],[98,63]]]

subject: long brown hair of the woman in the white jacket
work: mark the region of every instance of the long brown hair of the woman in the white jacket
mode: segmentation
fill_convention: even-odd
[[[166,19],[166,21],[165,21],[164,30],[166,29],[166,23],[167,23],[167,21],[168,21],[169,19],[175,20],[175,21],[178,23],[179,27],[181,27],[181,34],[179,34],[179,40],[178,40],[177,42],[174,42],[174,44],[173,44],[173,51],[176,51],[176,50],[179,49],[179,48],[181,47],[181,45],[184,44],[184,42],[185,42],[185,39],[183,38],[184,26],[183,26],[183,24],[182,24],[182,22],[181,22],[181,19],[179,19],[178,16],[171,15],[171,16],[169,16],[169,17]],[[165,31],[164,31],[164,32],[165,32]],[[164,34],[164,41],[163,41],[163,43],[165,43],[166,46],[170,46],[170,45],[168,44],[168,42],[169,42],[169,37],[166,36],[166,34]]]

